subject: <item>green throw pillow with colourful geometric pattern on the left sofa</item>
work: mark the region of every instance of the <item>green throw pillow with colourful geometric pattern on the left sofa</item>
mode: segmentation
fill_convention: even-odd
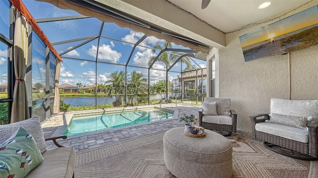
[[[33,136],[22,127],[0,145],[1,178],[24,178],[42,162]]]

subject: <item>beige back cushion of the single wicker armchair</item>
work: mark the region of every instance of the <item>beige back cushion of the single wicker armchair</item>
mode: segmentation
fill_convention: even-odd
[[[218,115],[231,116],[231,100],[229,98],[205,97],[204,103],[217,103]]]

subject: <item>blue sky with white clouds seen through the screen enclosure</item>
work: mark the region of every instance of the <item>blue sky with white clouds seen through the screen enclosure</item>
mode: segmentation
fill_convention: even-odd
[[[46,2],[39,2],[34,0],[22,0],[25,6],[28,8],[30,13],[35,19],[40,18],[51,18],[51,17],[62,17],[62,16],[74,16],[79,15],[79,13],[73,10],[64,10],[51,5]],[[2,12],[1,12],[2,13]],[[84,19],[72,19],[54,22],[44,22],[39,23],[39,26],[54,45],[56,51],[61,54],[69,49],[72,49],[79,44],[85,42],[85,40],[74,41],[70,43],[63,43],[55,45],[61,41],[74,40],[83,37],[97,36],[101,27],[101,21],[95,18],[84,18]],[[104,23],[102,36],[107,38],[100,38],[98,56],[97,60],[107,63],[97,63],[97,73],[95,62],[98,47],[98,40],[94,39],[85,45],[82,45],[67,54],[61,55],[63,63],[61,67],[60,82],[69,83],[71,85],[76,85],[76,83],[82,83],[83,85],[93,85],[95,83],[95,78],[97,78],[97,83],[104,84],[109,80],[109,74],[114,71],[125,70],[124,65],[116,64],[126,64],[127,59],[132,51],[133,45],[141,37],[144,36],[141,32],[135,32],[128,28],[121,28],[113,23]],[[159,40],[155,37],[147,37],[133,52],[133,55],[129,61],[128,65],[132,66],[142,66],[148,67],[148,59],[154,55],[158,55],[159,51],[153,53],[151,49],[155,44],[163,44],[163,40]],[[146,47],[146,48],[145,48]],[[148,47],[148,48],[147,48]],[[173,48],[187,49],[182,46],[177,46],[173,44]],[[0,46],[0,55],[6,53]],[[73,60],[81,59],[81,60]],[[5,56],[0,56],[0,67],[2,67],[3,60]],[[39,57],[33,55],[33,58],[43,59],[41,55]],[[194,59],[200,66],[206,67],[206,61],[200,59]],[[2,62],[1,62],[2,61]],[[35,62],[41,63],[41,60],[35,60]],[[42,61],[43,63],[43,61]],[[195,67],[196,64],[192,62]],[[2,64],[2,65],[1,65]],[[45,75],[44,66],[39,66],[39,72],[34,72],[32,84],[37,82],[42,83],[40,78]],[[182,64],[183,68],[185,64]],[[165,66],[162,63],[156,62],[153,66],[154,69],[165,70]],[[2,68],[1,72],[2,72]],[[181,63],[176,64],[172,70],[180,71]],[[148,69],[127,67],[128,73],[132,71],[139,71],[144,74],[144,77],[148,79]],[[151,70],[150,80],[151,84],[156,81],[165,79],[165,71],[161,70]],[[33,70],[34,71],[34,70]],[[42,77],[40,76],[42,75]],[[180,75],[177,72],[169,72],[169,79],[174,79]],[[0,81],[0,84],[4,81]]]

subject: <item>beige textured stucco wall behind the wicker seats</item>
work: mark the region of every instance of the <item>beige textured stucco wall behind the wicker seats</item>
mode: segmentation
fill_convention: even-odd
[[[282,19],[317,4],[318,0],[313,0],[278,16],[282,15]],[[238,113],[238,129],[251,131],[249,116],[269,113],[271,98],[289,99],[289,58],[290,99],[318,100],[318,47],[290,53],[289,58],[287,54],[244,62],[239,36],[277,20],[270,17],[258,25],[228,33],[227,46],[219,49],[219,97],[231,99]]]

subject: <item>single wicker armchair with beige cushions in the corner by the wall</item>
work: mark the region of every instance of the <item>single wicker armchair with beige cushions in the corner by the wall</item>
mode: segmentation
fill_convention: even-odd
[[[231,100],[226,98],[204,98],[204,103],[213,102],[216,102],[217,105],[217,115],[206,115],[203,112],[204,108],[200,109],[200,126],[209,130],[218,130],[224,136],[231,135],[232,132],[237,132],[237,113],[234,110],[231,110]],[[224,131],[229,133],[224,133]]]

